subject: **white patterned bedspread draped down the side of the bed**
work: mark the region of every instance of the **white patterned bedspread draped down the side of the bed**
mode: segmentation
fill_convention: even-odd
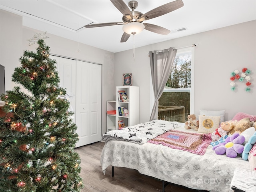
[[[186,130],[182,123],[178,123],[174,130],[196,133],[191,129]],[[116,139],[105,142],[100,159],[104,174],[108,166],[125,167],[192,189],[230,192],[236,167],[250,167],[249,162],[240,156],[228,158],[226,155],[216,155],[211,145],[206,148],[204,155],[199,155],[150,142],[139,144]]]

